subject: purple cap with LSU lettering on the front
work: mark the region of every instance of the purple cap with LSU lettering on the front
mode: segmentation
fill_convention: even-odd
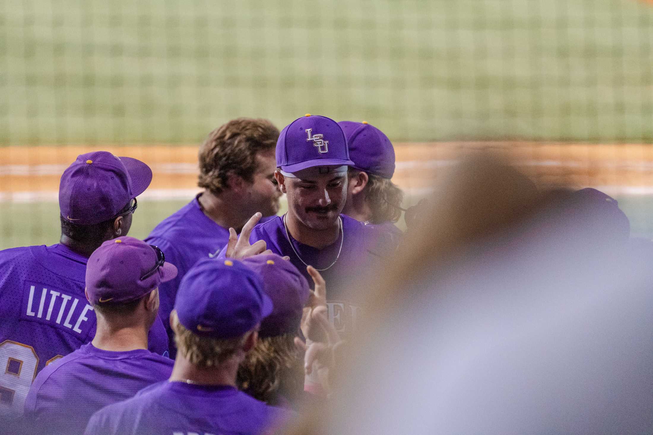
[[[299,172],[317,166],[353,166],[347,139],[333,119],[307,113],[287,125],[277,141],[277,166]]]

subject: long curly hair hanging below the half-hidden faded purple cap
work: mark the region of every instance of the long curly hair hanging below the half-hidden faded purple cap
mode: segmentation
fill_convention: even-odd
[[[295,346],[296,334],[259,338],[240,366],[238,388],[268,404],[279,395],[293,398],[304,389],[304,360]]]

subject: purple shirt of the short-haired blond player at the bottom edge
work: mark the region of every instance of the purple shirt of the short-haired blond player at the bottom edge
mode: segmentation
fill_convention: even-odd
[[[161,382],[96,412],[88,435],[265,433],[291,413],[226,385]]]

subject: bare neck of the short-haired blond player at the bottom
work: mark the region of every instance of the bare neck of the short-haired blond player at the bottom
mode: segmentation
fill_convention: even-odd
[[[197,367],[181,352],[177,352],[170,382],[188,382],[198,385],[231,385],[236,386],[236,373],[242,358],[234,355],[218,367]]]

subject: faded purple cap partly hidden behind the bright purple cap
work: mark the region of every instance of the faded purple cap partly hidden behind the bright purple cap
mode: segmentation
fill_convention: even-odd
[[[277,254],[261,254],[243,263],[263,279],[263,290],[272,299],[272,313],[261,322],[261,337],[275,337],[298,331],[302,310],[310,295],[308,281],[293,265]]]

